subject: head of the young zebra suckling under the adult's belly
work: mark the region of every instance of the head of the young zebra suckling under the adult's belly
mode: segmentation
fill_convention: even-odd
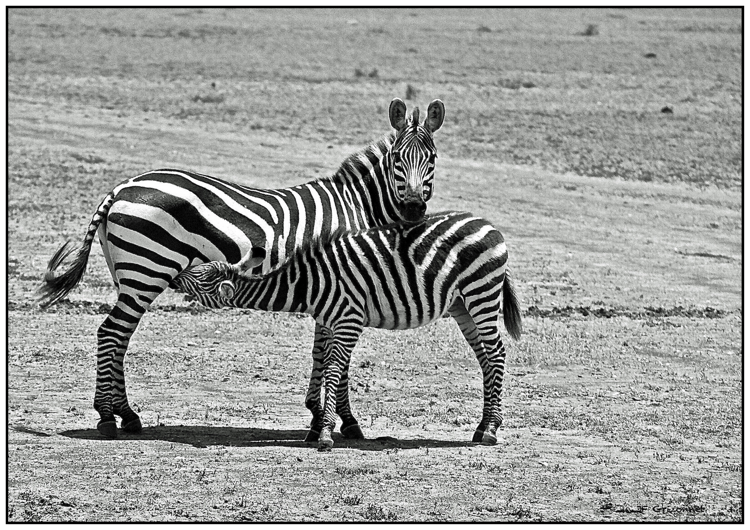
[[[266,249],[253,247],[237,265],[208,262],[193,265],[172,280],[172,285],[198,298],[205,307],[218,309],[236,305],[239,276],[248,275],[266,259]]]

